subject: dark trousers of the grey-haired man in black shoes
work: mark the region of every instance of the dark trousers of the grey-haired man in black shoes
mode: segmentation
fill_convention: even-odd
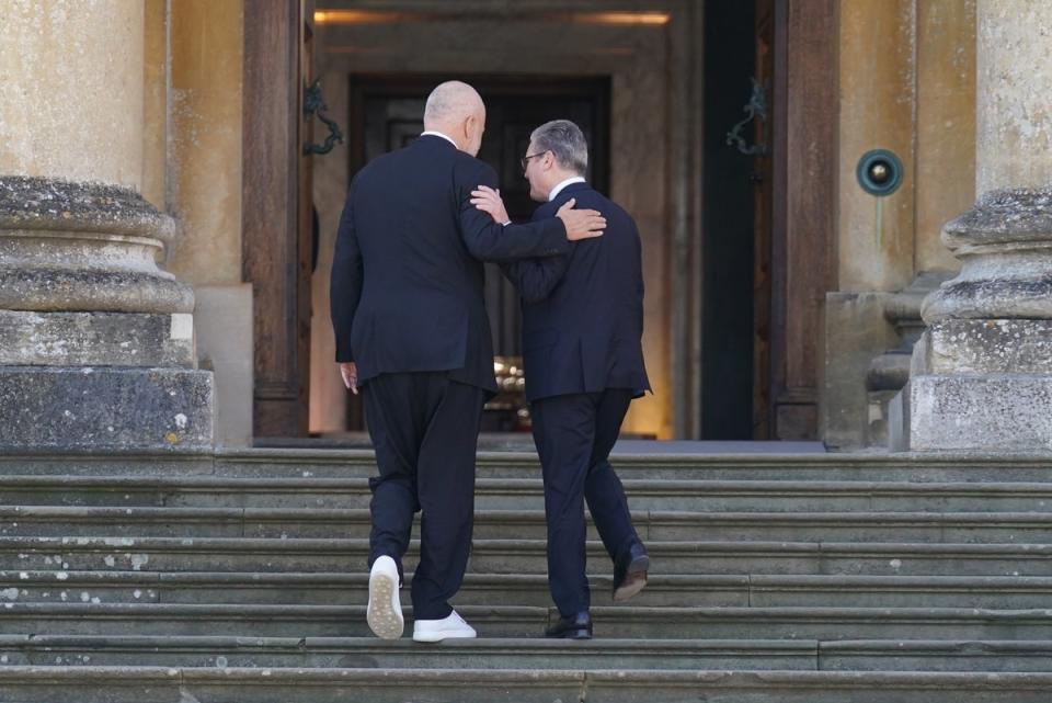
[[[548,586],[564,616],[588,610],[584,501],[614,560],[638,540],[620,479],[610,467],[632,390],[608,388],[534,400],[534,441],[545,480]]]

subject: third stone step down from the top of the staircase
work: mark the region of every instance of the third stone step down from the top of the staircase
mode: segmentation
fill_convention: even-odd
[[[0,506],[0,537],[366,537],[368,509]],[[1052,543],[1052,512],[634,511],[645,541]],[[591,526],[590,534],[595,535]],[[419,534],[418,529],[414,534]],[[546,535],[542,510],[478,510],[478,538]]]

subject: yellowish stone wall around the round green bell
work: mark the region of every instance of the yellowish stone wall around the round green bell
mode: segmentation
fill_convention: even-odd
[[[826,443],[857,449],[885,440],[891,394],[872,383],[896,361],[885,352],[904,377],[915,335],[903,330],[921,325],[923,288],[959,268],[939,234],[975,192],[974,0],[844,0],[841,95],[839,285],[826,298],[822,415]],[[878,148],[904,166],[881,199],[856,179]],[[908,310],[903,295],[917,298]]]

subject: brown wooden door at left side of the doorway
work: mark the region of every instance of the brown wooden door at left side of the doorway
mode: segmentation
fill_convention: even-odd
[[[244,19],[242,275],[253,287],[255,436],[307,433],[310,168],[304,81],[313,0],[256,0]]]

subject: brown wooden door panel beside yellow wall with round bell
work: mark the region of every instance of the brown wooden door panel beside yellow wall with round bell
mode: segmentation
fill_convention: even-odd
[[[774,1],[769,387],[777,440],[820,435],[825,294],[837,290],[836,7]]]

